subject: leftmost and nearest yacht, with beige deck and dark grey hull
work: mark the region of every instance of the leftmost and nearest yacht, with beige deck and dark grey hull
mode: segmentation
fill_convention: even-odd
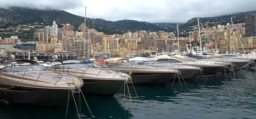
[[[10,66],[13,62],[24,65]],[[5,103],[63,107],[69,91],[79,92],[83,86],[81,75],[52,72],[28,59],[5,61],[0,67],[0,100]]]

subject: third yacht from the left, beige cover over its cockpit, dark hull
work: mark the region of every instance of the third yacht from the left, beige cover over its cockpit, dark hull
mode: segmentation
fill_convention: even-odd
[[[132,83],[165,84],[174,79],[178,70],[160,66],[139,65],[126,58],[111,58],[105,60],[102,68],[129,73]]]

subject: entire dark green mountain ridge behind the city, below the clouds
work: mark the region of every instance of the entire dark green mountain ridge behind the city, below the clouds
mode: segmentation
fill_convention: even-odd
[[[244,15],[249,12],[223,15],[218,17],[203,17],[200,18],[203,24],[208,26],[217,26],[219,24],[226,25],[231,23],[230,17],[233,17],[234,23],[244,22]],[[256,13],[250,12],[250,13]],[[0,8],[0,28],[8,28],[9,26],[17,26],[19,24],[32,24],[33,22],[44,23],[44,25],[52,25],[52,21],[61,27],[61,24],[70,23],[77,28],[81,23],[84,23],[84,17],[77,16],[75,14],[68,13],[62,10],[53,9],[31,9],[31,8]],[[92,19],[86,19],[86,25],[92,28]],[[179,23],[179,31],[193,31],[195,27],[193,25],[198,25],[197,18],[192,18],[186,23]],[[177,24],[176,23],[149,23],[149,22],[139,22],[135,20],[119,20],[119,21],[107,21],[105,19],[94,19],[94,28],[99,32],[104,32],[105,34],[121,34],[122,31],[127,32],[130,30],[134,32],[136,30],[151,30],[159,31],[165,30],[167,32],[175,32]],[[182,34],[181,34],[182,36]]]

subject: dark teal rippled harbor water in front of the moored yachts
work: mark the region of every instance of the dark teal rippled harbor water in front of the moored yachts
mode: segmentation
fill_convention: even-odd
[[[93,116],[84,100],[79,114],[81,119],[256,119],[256,68],[236,73],[239,76],[220,74],[186,84],[175,81],[173,86],[134,85],[138,97],[130,90],[132,103],[127,88],[125,97],[124,89],[113,97],[85,96]],[[79,101],[76,104],[80,111]],[[0,119],[79,119],[73,98],[66,109],[1,102]]]

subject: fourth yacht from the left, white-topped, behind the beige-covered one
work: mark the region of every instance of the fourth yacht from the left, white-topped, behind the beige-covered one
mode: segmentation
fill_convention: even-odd
[[[161,67],[169,67],[172,69],[177,69],[180,71],[183,79],[189,79],[193,75],[197,74],[200,68],[195,66],[188,66],[188,65],[179,65],[179,64],[170,64],[170,63],[159,63],[151,58],[144,58],[144,57],[137,57],[131,58],[129,61],[134,61],[140,65],[150,65],[150,66],[161,66]],[[179,78],[176,76],[176,79]],[[181,78],[181,77],[180,77]]]

